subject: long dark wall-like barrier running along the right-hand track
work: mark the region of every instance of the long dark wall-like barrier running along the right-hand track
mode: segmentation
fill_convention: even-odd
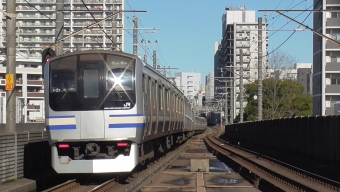
[[[227,125],[235,143],[340,165],[340,115],[296,117]]]

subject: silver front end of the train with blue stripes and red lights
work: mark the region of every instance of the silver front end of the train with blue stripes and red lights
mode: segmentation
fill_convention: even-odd
[[[86,51],[47,59],[46,128],[57,173],[130,172],[144,120],[133,55]]]

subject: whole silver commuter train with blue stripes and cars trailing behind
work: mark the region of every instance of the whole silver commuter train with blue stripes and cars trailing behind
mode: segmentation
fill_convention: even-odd
[[[206,119],[136,55],[45,49],[46,130],[57,173],[122,173],[194,134]]]

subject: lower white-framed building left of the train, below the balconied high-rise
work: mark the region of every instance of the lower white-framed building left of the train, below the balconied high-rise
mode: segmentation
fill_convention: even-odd
[[[45,119],[44,80],[41,64],[17,61],[16,67],[17,123]],[[6,64],[0,64],[0,123],[6,123]]]

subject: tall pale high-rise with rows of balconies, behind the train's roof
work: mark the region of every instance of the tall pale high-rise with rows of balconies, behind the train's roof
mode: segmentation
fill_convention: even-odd
[[[25,60],[41,61],[41,50],[54,44],[56,38],[56,14],[64,15],[64,37],[111,15],[114,11],[124,10],[124,0],[64,0],[63,10],[56,10],[56,0],[15,0],[17,28],[17,56]],[[6,10],[6,1],[0,9]],[[34,6],[34,7],[32,7]],[[39,11],[37,11],[39,10]],[[0,44],[6,45],[6,17],[0,13]],[[119,13],[97,26],[87,29],[64,41],[64,52],[74,51],[77,47],[112,48],[124,50],[124,14]],[[105,31],[105,33],[104,33]],[[113,43],[114,42],[114,43]]]

